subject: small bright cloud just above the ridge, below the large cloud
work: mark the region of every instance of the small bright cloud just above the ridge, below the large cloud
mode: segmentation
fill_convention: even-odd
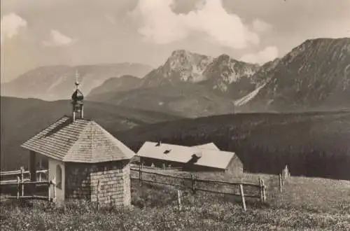
[[[267,46],[265,49],[260,50],[255,54],[246,54],[241,57],[241,61],[250,62],[255,64],[264,64],[273,59],[276,59],[279,55],[279,50],[276,46]]]

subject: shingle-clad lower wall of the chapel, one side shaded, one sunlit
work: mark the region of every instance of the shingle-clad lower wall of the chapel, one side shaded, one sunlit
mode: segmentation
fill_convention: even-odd
[[[97,187],[99,186],[99,188]],[[129,206],[129,160],[98,164],[66,164],[66,199],[85,199]]]

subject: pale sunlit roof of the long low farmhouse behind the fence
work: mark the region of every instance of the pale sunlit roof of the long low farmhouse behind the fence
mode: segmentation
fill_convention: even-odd
[[[157,143],[150,141],[144,143],[137,155],[144,158],[187,163],[197,153],[200,153],[201,156],[193,165],[217,169],[226,169],[235,156],[235,153],[232,152],[200,148],[197,146],[188,147],[163,143],[157,145]]]

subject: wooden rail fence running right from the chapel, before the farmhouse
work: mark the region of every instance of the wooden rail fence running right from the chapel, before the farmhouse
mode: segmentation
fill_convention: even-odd
[[[262,179],[259,179],[257,183],[216,181],[199,179],[195,174],[190,174],[190,177],[186,177],[149,171],[142,169],[141,165],[139,169],[131,168],[131,171],[138,173],[138,176],[131,176],[131,179],[138,180],[140,184],[143,182],[159,183],[162,185],[176,186],[184,189],[188,188],[192,190],[193,194],[195,194],[197,191],[203,191],[207,193],[239,196],[241,197],[244,211],[246,211],[246,197],[258,198],[261,202],[266,202],[266,186]],[[148,179],[145,179],[144,174],[148,174],[150,177],[148,177]],[[161,181],[161,179],[165,180]],[[246,190],[244,190],[244,188],[253,188],[253,190],[250,190],[250,192],[246,194]],[[256,193],[253,194],[253,192]]]

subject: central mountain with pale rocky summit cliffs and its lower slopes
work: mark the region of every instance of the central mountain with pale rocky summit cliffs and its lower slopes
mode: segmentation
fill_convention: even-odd
[[[190,118],[233,113],[232,89],[240,88],[234,92],[236,97],[254,90],[255,83],[250,78],[258,68],[228,55],[214,58],[175,50],[165,64],[141,80],[132,80],[135,87],[130,87],[126,78],[123,86],[128,87],[120,87],[121,80],[107,80],[92,90],[94,94],[90,93],[87,99]]]

